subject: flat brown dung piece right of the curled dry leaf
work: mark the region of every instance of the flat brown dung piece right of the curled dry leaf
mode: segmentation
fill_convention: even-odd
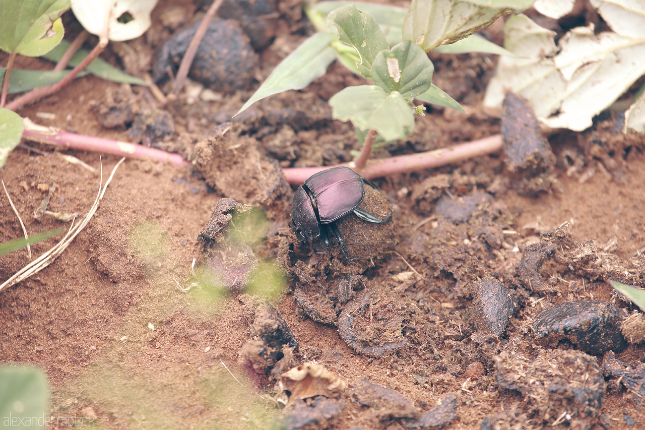
[[[359,405],[370,407],[379,420],[417,418],[421,413],[403,394],[366,380],[353,384],[352,395]]]

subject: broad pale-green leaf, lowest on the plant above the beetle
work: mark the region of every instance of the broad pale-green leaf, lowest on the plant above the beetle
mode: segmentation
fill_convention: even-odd
[[[414,131],[414,112],[399,92],[387,94],[375,85],[347,87],[329,99],[332,118],[373,129],[386,141],[404,139]]]

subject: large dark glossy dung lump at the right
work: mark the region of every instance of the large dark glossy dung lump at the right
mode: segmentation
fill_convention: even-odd
[[[625,316],[625,312],[613,303],[600,300],[565,302],[537,314],[533,333],[550,348],[567,340],[589,354],[619,353],[627,347],[620,332]]]

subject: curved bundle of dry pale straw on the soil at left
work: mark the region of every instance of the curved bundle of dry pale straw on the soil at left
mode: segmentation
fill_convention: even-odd
[[[83,220],[81,220],[80,223],[74,226],[74,221],[72,221],[72,225],[70,225],[70,229],[68,230],[67,234],[65,234],[64,238],[61,239],[54,247],[52,247],[49,251],[45,252],[45,254],[41,255],[39,258],[35,259],[23,269],[20,271],[16,272],[14,276],[6,280],[2,285],[0,285],[0,291],[2,291],[3,288],[5,287],[10,287],[12,285],[15,285],[18,282],[21,282],[22,280],[25,280],[26,278],[32,276],[32,274],[35,274],[50,265],[52,261],[54,261],[59,255],[65,251],[65,249],[72,243],[72,240],[85,228],[85,226],[90,222],[94,214],[96,213],[96,210],[99,208],[99,202],[101,199],[103,199],[103,196],[105,194],[105,191],[108,189],[108,185],[112,181],[112,178],[114,177],[114,173],[117,171],[121,163],[123,163],[125,158],[121,158],[119,162],[114,166],[114,169],[112,169],[112,174],[110,174],[110,177],[108,178],[107,181],[105,181],[105,185],[103,185],[103,168],[101,168],[101,179],[99,181],[99,192],[94,200],[94,204],[92,204],[92,207],[90,207],[90,210],[88,211],[87,215],[84,216]]]

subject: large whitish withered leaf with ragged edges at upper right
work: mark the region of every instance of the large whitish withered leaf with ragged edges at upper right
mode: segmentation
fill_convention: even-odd
[[[645,5],[637,0],[591,0],[614,31],[573,28],[559,40],[518,15],[506,22],[504,47],[484,105],[499,107],[507,90],[526,97],[548,127],[581,131],[645,74]]]

